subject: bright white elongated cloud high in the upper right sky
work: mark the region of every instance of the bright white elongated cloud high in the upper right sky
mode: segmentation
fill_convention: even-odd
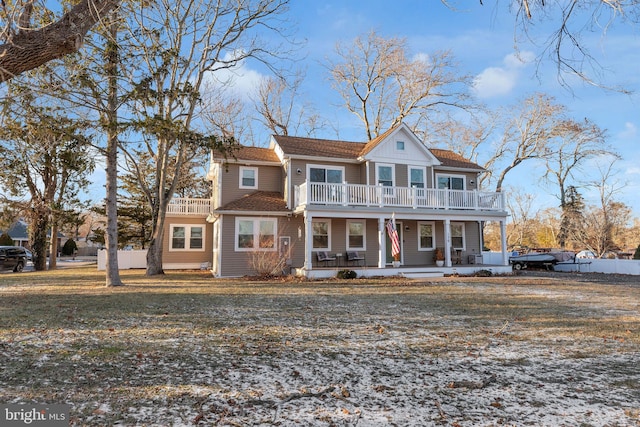
[[[501,67],[489,67],[476,76],[473,90],[479,98],[491,98],[509,94],[518,83],[521,70],[534,59],[528,51],[512,53],[502,60]]]

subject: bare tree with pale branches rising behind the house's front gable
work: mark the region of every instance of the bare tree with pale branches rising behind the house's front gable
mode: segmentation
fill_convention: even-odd
[[[450,52],[410,58],[404,39],[374,31],[335,51],[339,59],[327,64],[332,85],[362,122],[367,140],[410,117],[418,128],[430,112],[466,107],[470,78],[458,74]]]

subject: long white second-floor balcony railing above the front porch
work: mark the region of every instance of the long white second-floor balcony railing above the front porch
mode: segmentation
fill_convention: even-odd
[[[414,209],[505,210],[503,193],[417,187],[305,182],[296,186],[295,205],[397,207]]]

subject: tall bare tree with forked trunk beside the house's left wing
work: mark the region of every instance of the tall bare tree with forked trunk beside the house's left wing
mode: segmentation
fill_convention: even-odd
[[[139,46],[140,78],[132,98],[136,130],[142,141],[125,152],[139,177],[153,217],[147,254],[147,275],[162,274],[164,224],[167,207],[176,193],[183,165],[199,148],[221,151],[233,142],[199,131],[197,113],[201,89],[210,73],[232,69],[248,58],[268,65],[269,47],[257,30],[279,32],[278,16],[287,0],[160,0],[132,12]],[[152,179],[146,182],[137,162],[148,152]]]

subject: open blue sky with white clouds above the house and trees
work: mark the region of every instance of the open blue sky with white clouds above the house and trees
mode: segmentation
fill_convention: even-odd
[[[583,32],[583,41],[603,67],[603,79],[611,85],[623,85],[635,91],[632,95],[593,87],[571,76],[571,90],[558,83],[556,66],[549,60],[537,65],[532,59],[541,53],[541,46],[553,28],[553,23],[536,22],[531,31],[539,45],[521,41],[518,60],[514,49],[514,16],[508,9],[510,1],[478,0],[450,1],[458,10],[445,7],[439,0],[292,0],[286,19],[291,34],[305,42],[299,46],[295,67],[306,70],[302,100],[310,102],[345,140],[362,141],[363,130],[358,119],[344,108],[338,94],[331,89],[328,72],[322,65],[333,54],[337,42],[349,42],[371,30],[384,37],[406,38],[412,54],[429,54],[450,50],[461,72],[475,77],[475,95],[491,107],[510,106],[535,92],[555,97],[565,105],[576,120],[589,118],[606,130],[607,140],[622,155],[617,164],[616,179],[624,190],[616,199],[633,208],[640,217],[640,26],[614,25],[606,36],[596,28]],[[496,5],[497,3],[497,5]],[[461,5],[464,5],[461,6]],[[292,64],[287,64],[291,67]],[[246,94],[267,75],[258,63],[244,63],[238,76],[237,89]],[[318,137],[336,138],[334,128]],[[256,145],[267,144],[268,134],[258,137]],[[250,141],[242,141],[250,144]],[[506,185],[516,191],[535,193],[534,210],[557,206],[552,190],[539,186],[543,173],[524,163],[507,176]],[[594,175],[593,178],[596,178]],[[100,180],[97,180],[100,182]],[[100,190],[103,191],[103,190]],[[592,194],[583,190],[588,203]]]

